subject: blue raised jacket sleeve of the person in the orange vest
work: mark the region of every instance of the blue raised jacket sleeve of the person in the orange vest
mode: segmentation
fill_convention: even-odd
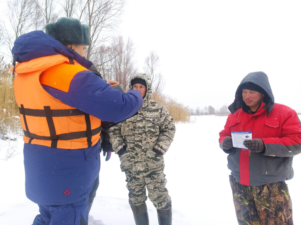
[[[142,107],[139,91],[121,93],[88,70],[73,77],[68,92],[47,85],[42,86],[54,98],[103,121],[123,121]]]

